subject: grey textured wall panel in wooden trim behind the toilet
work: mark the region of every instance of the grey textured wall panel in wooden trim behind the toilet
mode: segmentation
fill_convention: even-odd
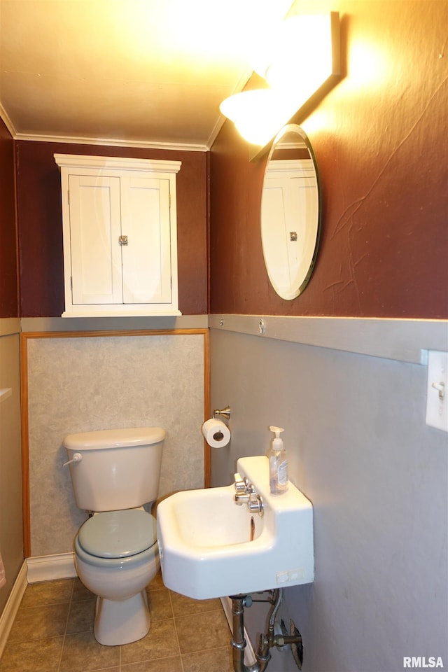
[[[204,486],[204,337],[28,340],[31,554],[71,551],[85,519],[62,440],[97,429],[167,430],[160,496]]]

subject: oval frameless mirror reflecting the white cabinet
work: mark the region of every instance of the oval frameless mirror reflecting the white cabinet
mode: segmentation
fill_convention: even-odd
[[[283,299],[307,286],[321,230],[321,190],[307,134],[295,124],[274,140],[261,200],[261,240],[269,281]]]

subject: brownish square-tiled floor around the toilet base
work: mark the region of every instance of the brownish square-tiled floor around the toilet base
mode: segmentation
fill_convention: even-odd
[[[94,596],[78,579],[30,584],[0,660],[0,672],[232,672],[221,601],[196,601],[148,586],[151,629],[131,644],[93,636]]]

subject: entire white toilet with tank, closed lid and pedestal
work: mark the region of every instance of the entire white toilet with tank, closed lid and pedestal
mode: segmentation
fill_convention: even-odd
[[[70,434],[64,439],[76,504],[93,512],[74,541],[80,580],[97,595],[94,636],[127,644],[148,633],[146,586],[160,561],[154,517],[165,430],[160,427]]]

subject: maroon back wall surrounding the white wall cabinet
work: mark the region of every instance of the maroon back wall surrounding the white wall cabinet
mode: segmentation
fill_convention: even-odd
[[[53,155],[85,154],[182,162],[177,174],[179,309],[207,314],[207,155],[96,145],[17,141],[18,235],[24,317],[64,310],[62,207]]]

